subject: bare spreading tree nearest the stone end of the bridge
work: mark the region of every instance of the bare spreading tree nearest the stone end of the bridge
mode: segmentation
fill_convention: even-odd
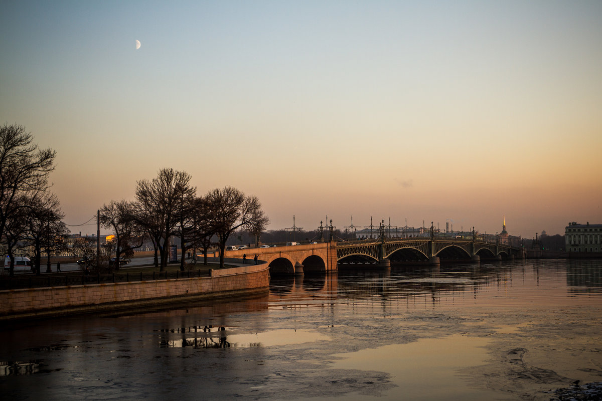
[[[257,197],[247,197],[231,186],[214,189],[206,195],[206,201],[211,209],[210,224],[213,225],[218,237],[220,267],[223,267],[228,237],[238,228],[253,233],[261,232],[265,230],[270,219],[265,216]]]

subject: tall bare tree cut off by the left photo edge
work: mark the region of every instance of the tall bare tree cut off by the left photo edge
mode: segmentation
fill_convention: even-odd
[[[0,238],[8,219],[27,204],[19,197],[35,197],[49,188],[48,174],[54,170],[56,152],[33,144],[31,133],[17,125],[0,127]],[[13,223],[17,221],[13,219]]]

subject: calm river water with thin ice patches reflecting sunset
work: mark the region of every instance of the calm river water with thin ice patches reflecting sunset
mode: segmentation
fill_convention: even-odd
[[[270,293],[0,329],[14,400],[549,400],[602,381],[602,260],[273,279]]]

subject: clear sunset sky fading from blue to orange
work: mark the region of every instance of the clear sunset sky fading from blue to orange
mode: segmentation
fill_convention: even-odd
[[[273,230],[563,234],[602,223],[602,2],[3,0],[0,123],[75,233],[174,168]]]

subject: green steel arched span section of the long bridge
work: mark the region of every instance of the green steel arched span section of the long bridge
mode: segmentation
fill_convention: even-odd
[[[490,257],[520,256],[521,249],[509,245],[499,245],[470,239],[447,237],[408,237],[353,240],[337,243],[337,261],[350,256],[362,256],[381,262],[400,250],[409,250],[424,259],[430,260],[444,254],[446,249],[453,249],[459,256],[471,259],[483,254]]]

